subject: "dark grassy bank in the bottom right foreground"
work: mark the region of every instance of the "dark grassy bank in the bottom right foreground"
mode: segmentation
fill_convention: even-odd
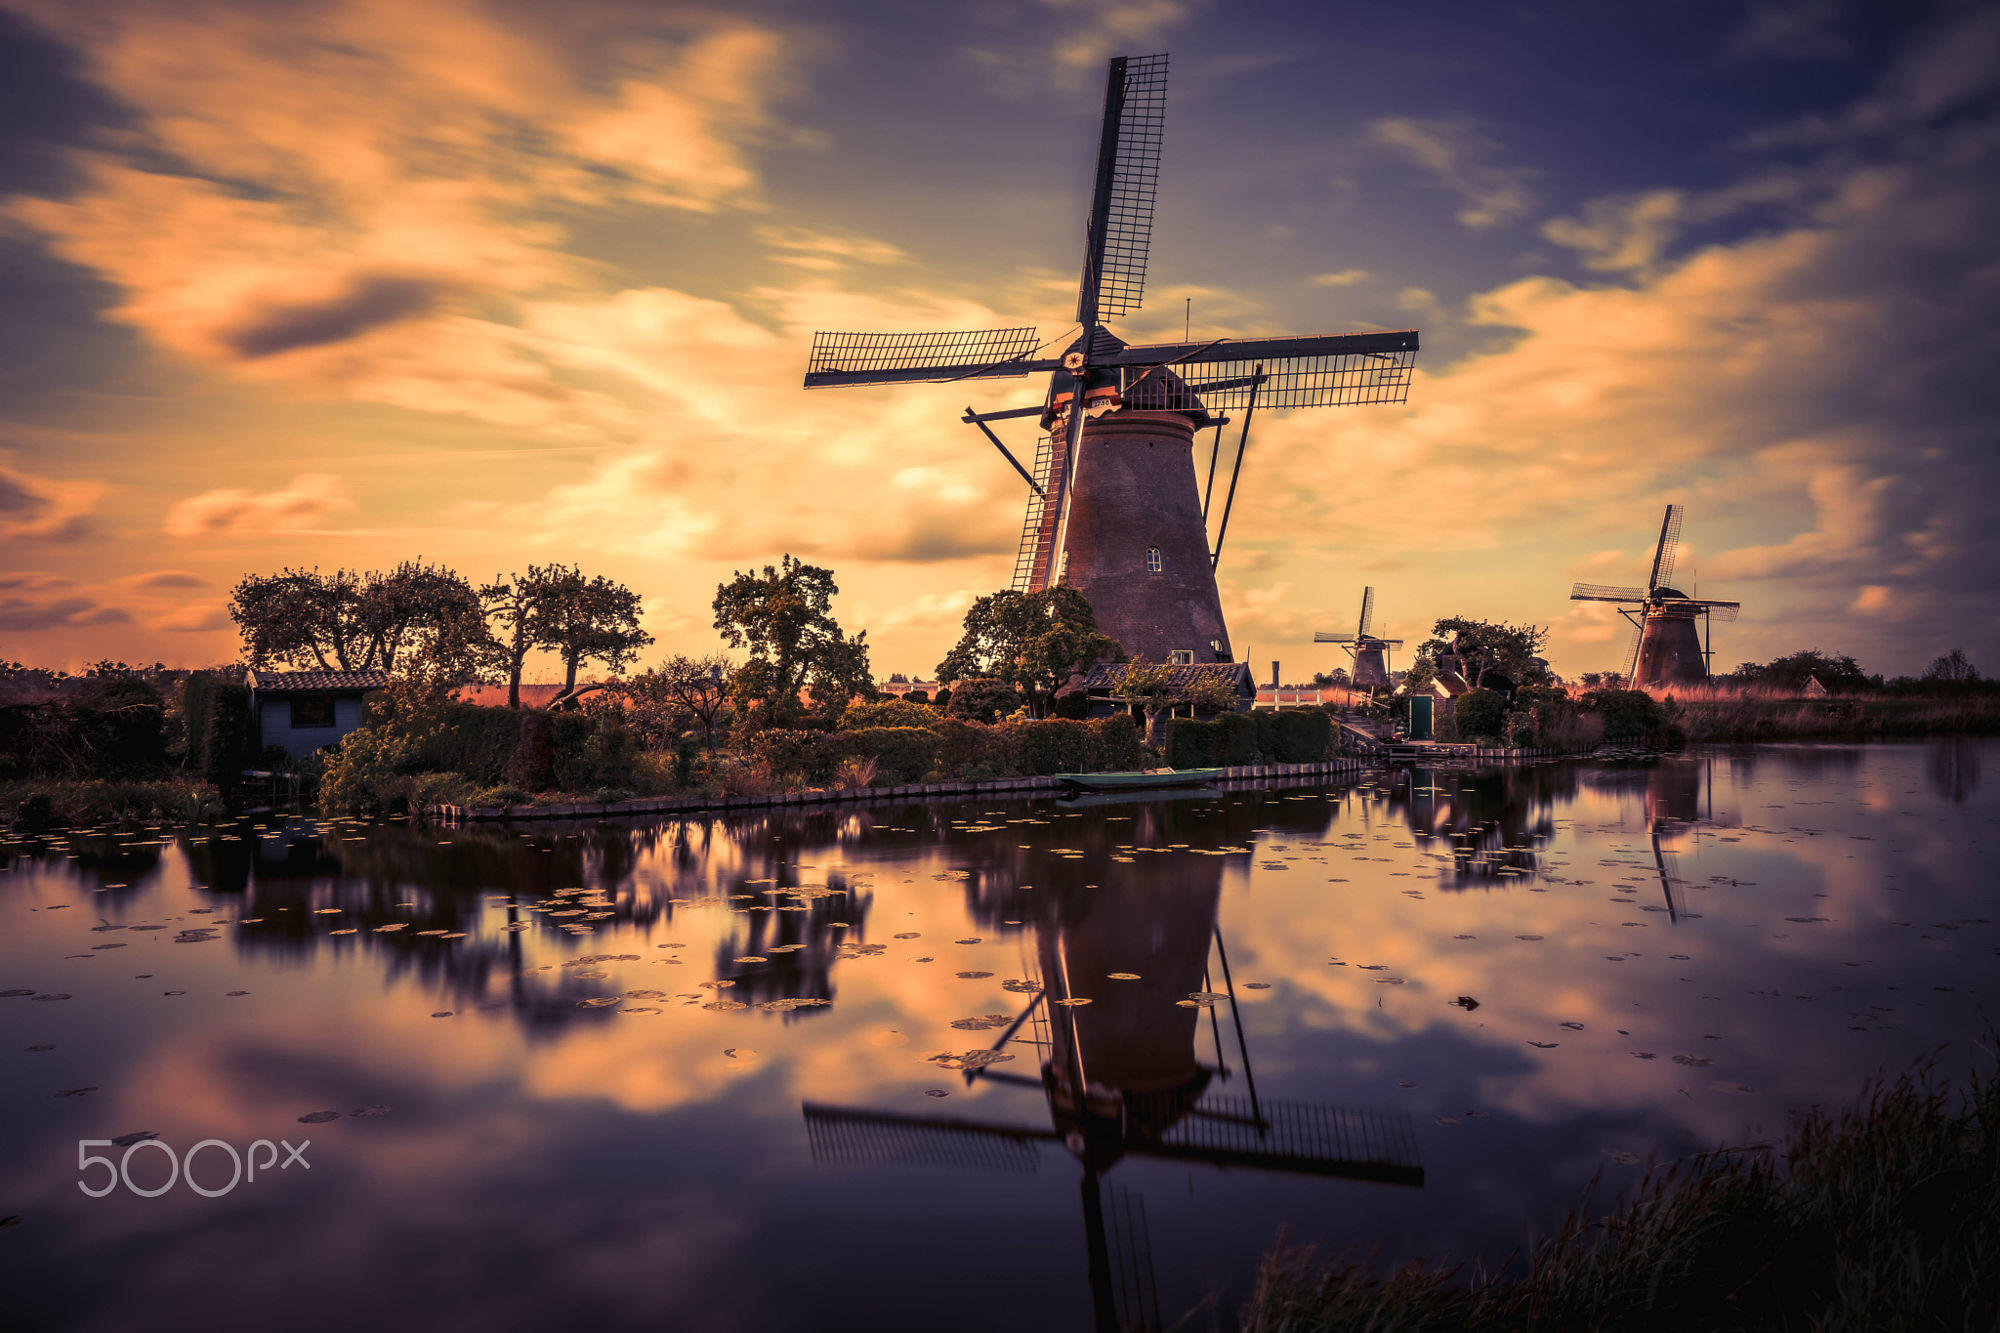
[[[1990,1045],[1992,1037],[1988,1037]],[[1798,1117],[1782,1155],[1654,1169],[1608,1219],[1588,1195],[1522,1265],[1462,1269],[1266,1257],[1254,1333],[1366,1329],[2000,1327],[2000,1075],[1952,1097],[1934,1067]]]

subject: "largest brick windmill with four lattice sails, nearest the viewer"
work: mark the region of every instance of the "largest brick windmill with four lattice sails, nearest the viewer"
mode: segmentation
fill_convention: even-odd
[[[1014,588],[1074,586],[1098,624],[1134,656],[1228,662],[1216,562],[1228,534],[1256,408],[1402,402],[1418,336],[1360,332],[1128,344],[1104,326],[1140,308],[1160,184],[1166,54],[1116,56],[1104,90],[1096,172],[1076,292],[1076,332],[1060,356],[1034,328],[816,332],[806,388],[956,382],[1048,374],[1038,406],[974,412],[1028,482]],[[1214,544],[1208,516],[1222,452],[1222,410],[1242,426]],[[988,422],[1036,418],[1034,468]],[[1206,488],[1194,434],[1216,428]]]

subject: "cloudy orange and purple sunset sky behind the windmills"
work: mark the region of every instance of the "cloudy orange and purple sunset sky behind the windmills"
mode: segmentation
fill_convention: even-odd
[[[928,675],[1026,500],[958,414],[1042,388],[806,392],[812,332],[1066,334],[1156,50],[1114,330],[1422,332],[1406,404],[1256,418],[1260,679],[1364,584],[1616,671],[1568,584],[1668,500],[1718,669],[2000,671],[2000,8],[1860,0],[0,0],[0,658],[226,662],[244,574],[424,558],[610,574],[650,660],[792,552]]]

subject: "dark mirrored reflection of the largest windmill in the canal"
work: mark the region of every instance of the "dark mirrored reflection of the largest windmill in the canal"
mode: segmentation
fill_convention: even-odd
[[[1124,1189],[1106,1199],[1104,1191],[1104,1175],[1126,1157],[1422,1187],[1408,1115],[1258,1095],[1218,925],[1220,867],[1220,857],[1160,857],[1146,875],[1106,877],[1038,919],[1040,991],[988,1053],[954,1063],[964,1065],[968,1087],[988,1079],[1038,1089],[1046,1129],[808,1101],[814,1161],[1032,1173],[1042,1149],[1060,1145],[1082,1169],[1098,1329],[1152,1329],[1160,1319],[1144,1201]],[[1220,991],[1212,989],[1216,979]],[[1222,1007],[1230,1011],[1228,1037]],[[1212,1061],[1198,1053],[1204,1029]],[[1034,1047],[1040,1075],[984,1063],[1012,1057],[1010,1047]],[[1236,1077],[1242,1095],[1218,1093]]]

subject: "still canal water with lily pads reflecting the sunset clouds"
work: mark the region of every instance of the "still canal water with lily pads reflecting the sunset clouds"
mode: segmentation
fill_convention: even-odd
[[[1982,771],[12,839],[0,1321],[1208,1327],[1280,1235],[1490,1267],[1600,1173],[1968,1065]]]

